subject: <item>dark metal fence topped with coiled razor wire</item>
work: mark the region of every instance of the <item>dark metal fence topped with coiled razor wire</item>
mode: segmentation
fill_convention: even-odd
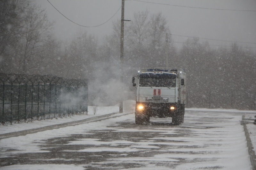
[[[84,113],[87,99],[87,80],[0,73],[2,124]]]

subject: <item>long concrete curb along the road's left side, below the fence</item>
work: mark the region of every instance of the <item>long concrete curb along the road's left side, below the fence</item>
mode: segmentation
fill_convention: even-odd
[[[36,133],[36,132],[39,132],[39,131],[58,129],[58,128],[66,127],[66,126],[75,126],[75,125],[78,125],[78,124],[84,124],[84,123],[90,123],[90,122],[105,120],[105,119],[108,119],[108,118],[120,117],[120,116],[128,115],[128,114],[131,114],[131,113],[132,112],[129,112],[129,113],[109,113],[109,114],[106,114],[106,115],[90,117],[90,118],[77,120],[77,121],[73,121],[73,122],[66,122],[66,123],[62,123],[62,124],[54,124],[54,125],[44,126],[44,127],[35,128],[35,129],[28,129],[28,130],[24,130],[24,131],[4,133],[4,134],[0,134],[0,140],[4,139],[4,138],[11,138],[11,137],[20,136],[20,135],[27,135],[27,134],[31,134],[31,133]]]

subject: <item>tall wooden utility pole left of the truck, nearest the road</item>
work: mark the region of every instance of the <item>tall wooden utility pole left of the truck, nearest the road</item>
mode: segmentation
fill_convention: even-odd
[[[120,45],[120,81],[123,84],[123,72],[124,72],[124,0],[122,0],[122,12],[121,12],[121,45]],[[123,113],[123,95],[120,96],[119,113]]]

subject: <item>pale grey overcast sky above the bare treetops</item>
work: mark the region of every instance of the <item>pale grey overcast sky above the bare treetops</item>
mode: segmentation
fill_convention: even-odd
[[[121,7],[121,0],[49,0],[67,18],[84,26],[100,25],[118,11],[107,23],[93,28],[81,27],[70,22],[47,0],[35,1],[43,9],[46,9],[50,20],[56,21],[54,34],[64,41],[72,39],[79,30],[87,31],[101,39],[104,35],[112,32],[112,22],[121,19],[121,9],[118,11]],[[125,0],[124,18],[131,20],[133,14],[138,11],[162,12],[168,21],[171,33],[175,34],[172,35],[172,40],[175,42],[184,42],[187,39],[187,37],[181,36],[199,37],[201,42],[204,41],[204,38],[239,41],[248,42],[239,43],[239,45],[254,47],[251,49],[256,51],[256,0],[140,1]],[[212,45],[231,45],[226,41],[208,41]],[[180,46],[179,43],[175,43],[175,45]]]

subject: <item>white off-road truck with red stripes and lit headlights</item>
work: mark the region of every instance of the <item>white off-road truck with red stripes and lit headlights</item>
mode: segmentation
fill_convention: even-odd
[[[150,117],[172,117],[172,124],[184,122],[186,73],[171,68],[140,68],[132,77],[136,87],[135,123],[149,123]]]

